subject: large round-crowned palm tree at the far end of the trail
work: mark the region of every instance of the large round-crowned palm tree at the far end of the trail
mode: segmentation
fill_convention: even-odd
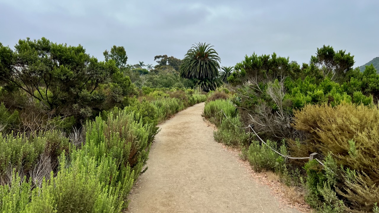
[[[206,43],[192,45],[183,59],[183,64],[180,65],[180,75],[183,78],[193,79],[205,91],[218,86],[216,79],[221,59],[212,47]]]

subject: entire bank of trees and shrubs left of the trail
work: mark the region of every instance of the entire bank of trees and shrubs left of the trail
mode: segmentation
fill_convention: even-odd
[[[207,100],[170,66],[133,68],[124,47],[104,56],[0,44],[0,212],[122,212],[157,124]]]

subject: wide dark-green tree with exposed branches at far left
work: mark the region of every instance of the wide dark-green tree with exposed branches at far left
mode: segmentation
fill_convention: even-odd
[[[0,45],[1,101],[7,107],[24,109],[33,100],[42,114],[50,111],[52,116],[73,116],[79,122],[108,109],[110,103],[125,105],[136,94],[116,61],[98,61],[81,45],[28,38],[14,48]]]

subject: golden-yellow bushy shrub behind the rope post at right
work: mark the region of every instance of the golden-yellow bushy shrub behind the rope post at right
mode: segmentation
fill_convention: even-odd
[[[338,164],[365,172],[379,183],[379,109],[342,103],[307,105],[294,115],[294,127],[308,140],[293,146],[294,152],[332,152]],[[299,149],[298,149],[299,148]],[[299,154],[299,153],[298,153]],[[305,155],[307,156],[307,155]]]

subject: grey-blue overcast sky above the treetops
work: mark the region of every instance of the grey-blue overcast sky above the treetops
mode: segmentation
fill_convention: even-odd
[[[128,64],[153,65],[156,55],[183,59],[207,42],[221,66],[253,52],[309,63],[326,44],[351,52],[356,67],[379,56],[378,9],[378,0],[0,0],[0,42],[45,37],[99,60],[124,46]]]

